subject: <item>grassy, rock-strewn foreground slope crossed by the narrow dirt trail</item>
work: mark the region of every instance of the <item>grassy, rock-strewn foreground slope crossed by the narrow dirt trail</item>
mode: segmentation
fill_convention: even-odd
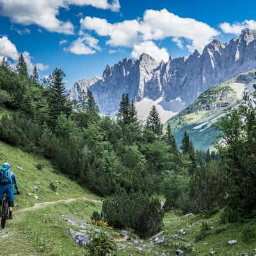
[[[164,216],[163,233],[157,235],[160,241],[166,243],[156,243],[156,237],[138,239],[131,232],[131,239],[127,241],[120,236],[120,230],[90,223],[92,212],[100,211],[102,204],[88,189],[55,170],[49,161],[2,141],[0,159],[12,164],[22,193],[15,201],[19,207],[15,206],[13,220],[6,223],[4,230],[0,230],[0,255],[86,255],[86,249],[75,243],[69,228],[81,234],[93,234],[97,230],[108,232],[118,244],[118,256],[176,255],[177,248],[184,250],[186,244],[190,244],[188,252],[195,248],[195,253],[190,255],[198,256],[208,255],[211,248],[218,255],[237,256],[255,250],[256,237],[244,242],[242,230],[246,230],[248,225],[255,230],[256,220],[224,225],[220,224],[220,213],[188,217],[176,211],[168,212]],[[36,168],[38,163],[44,165],[42,170]],[[51,182],[57,185],[57,193],[50,188]],[[36,200],[34,195],[40,196],[40,199]],[[35,203],[40,205],[33,207]],[[203,222],[207,222],[211,229],[202,241],[195,242],[195,237],[201,234]],[[185,228],[185,233],[180,234],[182,228]],[[236,239],[237,244],[227,246],[232,239]]]

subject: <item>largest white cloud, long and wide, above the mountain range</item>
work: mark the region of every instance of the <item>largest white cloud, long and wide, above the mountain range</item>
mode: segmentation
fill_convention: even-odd
[[[188,40],[190,52],[202,51],[205,45],[220,33],[208,24],[191,18],[183,18],[168,10],[147,10],[143,19],[124,20],[109,23],[106,19],[84,17],[80,20],[81,29],[95,31],[100,36],[109,36],[107,44],[133,47],[134,44],[152,40],[173,38],[180,47],[181,38]]]

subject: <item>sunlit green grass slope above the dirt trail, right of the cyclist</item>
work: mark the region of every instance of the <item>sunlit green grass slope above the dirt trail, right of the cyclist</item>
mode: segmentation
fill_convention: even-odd
[[[22,195],[16,196],[17,200],[15,201],[15,204],[19,205],[19,209],[29,207],[35,203],[56,201],[63,198],[81,196],[96,198],[88,189],[54,169],[49,161],[22,152],[19,148],[0,141],[0,165],[4,162],[12,165],[12,172],[15,173],[22,193]],[[36,168],[38,163],[43,164],[44,168],[42,170]],[[23,170],[19,170],[18,166],[22,167]],[[56,184],[57,193],[50,188],[51,182]],[[38,190],[35,190],[34,187],[37,187]],[[40,200],[36,200],[34,195],[38,195]]]

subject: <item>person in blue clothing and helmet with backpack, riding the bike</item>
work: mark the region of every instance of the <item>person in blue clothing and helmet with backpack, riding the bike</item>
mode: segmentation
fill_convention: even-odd
[[[16,182],[16,178],[13,172],[11,172],[11,165],[9,163],[4,163],[0,170],[0,209],[3,203],[4,193],[8,196],[9,205],[9,220],[12,220],[12,210],[14,202],[14,191],[13,186],[16,189],[17,195],[20,194],[19,188]]]

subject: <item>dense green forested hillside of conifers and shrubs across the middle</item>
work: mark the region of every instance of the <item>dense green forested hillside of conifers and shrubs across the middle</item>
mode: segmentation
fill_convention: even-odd
[[[164,213],[174,210],[221,210],[223,223],[255,218],[256,109],[248,95],[220,120],[218,152],[195,152],[186,131],[177,147],[155,107],[140,124],[129,95],[123,95],[116,120],[100,115],[90,91],[69,102],[64,76],[56,68],[39,81],[36,67],[28,74],[22,54],[15,70],[3,60],[0,104],[6,113],[0,139],[46,157],[93,193],[108,196],[92,220],[131,228],[145,238],[159,232]],[[208,232],[203,225],[200,239]]]

